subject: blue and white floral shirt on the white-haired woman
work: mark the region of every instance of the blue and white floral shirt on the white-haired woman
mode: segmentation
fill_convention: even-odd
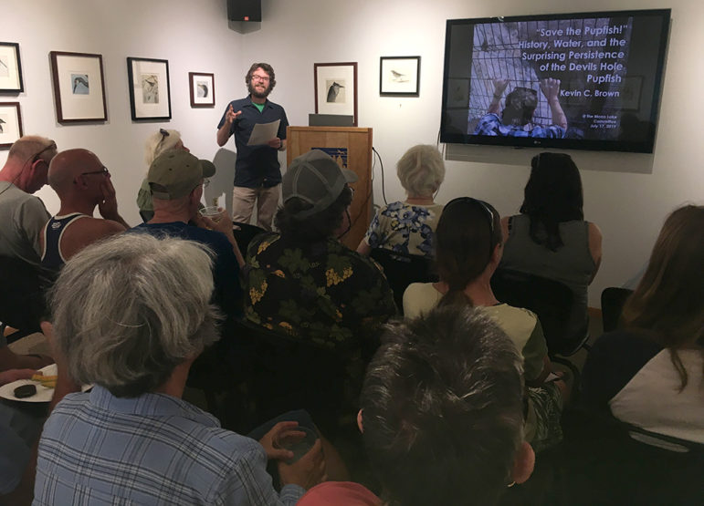
[[[433,236],[443,206],[392,202],[374,216],[364,241],[372,248],[432,258]]]

